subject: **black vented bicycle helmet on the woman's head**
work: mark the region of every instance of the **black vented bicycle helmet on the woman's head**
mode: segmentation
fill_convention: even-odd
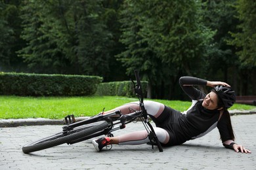
[[[215,86],[215,92],[219,95],[219,98],[223,101],[224,107],[226,109],[232,107],[236,101],[236,95],[234,90],[228,88],[227,86]]]

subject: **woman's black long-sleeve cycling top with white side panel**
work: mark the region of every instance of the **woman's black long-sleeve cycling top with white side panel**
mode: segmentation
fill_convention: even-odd
[[[215,127],[219,129],[223,142],[231,139],[225,116],[221,116],[219,119],[219,110],[205,109],[202,106],[205,93],[194,87],[194,85],[206,86],[207,80],[192,76],[182,76],[179,82],[182,90],[192,99],[192,106],[185,112],[182,112],[178,120],[173,122],[175,124],[177,144],[202,137]]]

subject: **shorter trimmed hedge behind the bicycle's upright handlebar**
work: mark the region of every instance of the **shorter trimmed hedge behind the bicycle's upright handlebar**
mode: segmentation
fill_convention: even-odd
[[[148,82],[141,81],[143,95],[146,96]],[[119,95],[126,97],[135,97],[133,83],[131,81],[123,82],[102,82],[98,84],[96,95]]]

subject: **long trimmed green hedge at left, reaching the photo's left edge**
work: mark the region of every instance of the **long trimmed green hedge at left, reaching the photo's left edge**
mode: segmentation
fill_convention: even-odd
[[[1,95],[93,95],[100,76],[0,73]]]

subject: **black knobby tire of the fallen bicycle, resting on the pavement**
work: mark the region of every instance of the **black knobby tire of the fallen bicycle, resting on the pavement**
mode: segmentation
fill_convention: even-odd
[[[59,137],[62,134],[62,132],[56,133],[55,135],[52,135],[50,137],[46,137],[39,141],[26,144],[25,146],[22,147],[22,151],[24,152],[24,154],[28,154],[30,152],[35,152],[46,148],[51,148],[53,146],[58,146],[60,144],[69,143],[70,141],[74,141],[75,139],[91,135],[93,133],[96,133],[97,131],[102,131],[103,129],[106,129],[106,127],[108,127],[108,122],[102,121],[98,125],[85,127],[85,129],[81,129],[80,131],[77,132],[68,131],[65,136]]]

